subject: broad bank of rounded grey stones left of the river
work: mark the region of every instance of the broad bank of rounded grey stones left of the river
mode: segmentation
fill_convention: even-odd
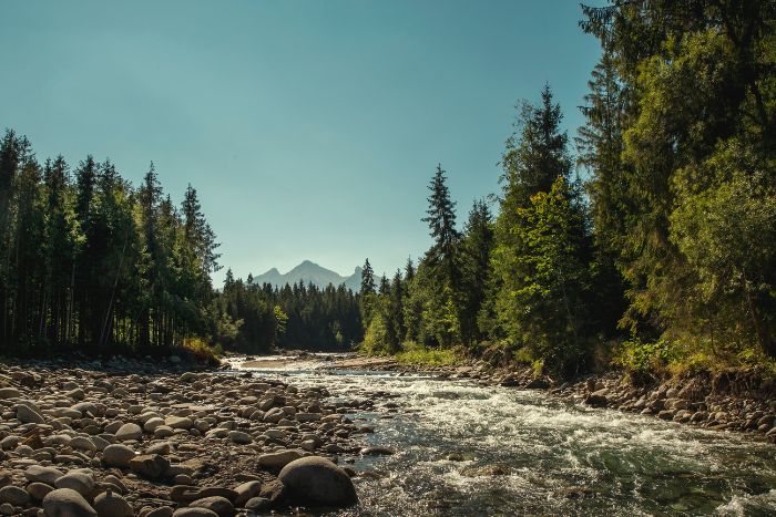
[[[0,361],[0,515],[232,516],[357,500],[324,389],[175,363]],[[370,404],[370,402],[366,402]],[[368,451],[365,451],[368,454]]]

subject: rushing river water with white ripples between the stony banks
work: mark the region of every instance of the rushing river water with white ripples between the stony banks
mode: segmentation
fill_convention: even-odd
[[[776,515],[776,446],[744,434],[426,375],[261,372],[376,400],[349,416],[397,454],[344,458],[384,477],[339,515]]]

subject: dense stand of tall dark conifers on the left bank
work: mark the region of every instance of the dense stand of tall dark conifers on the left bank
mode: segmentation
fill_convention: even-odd
[[[181,206],[153,164],[135,188],[110,161],[42,164],[0,143],[0,347],[143,352],[207,334],[218,247],[191,186]]]

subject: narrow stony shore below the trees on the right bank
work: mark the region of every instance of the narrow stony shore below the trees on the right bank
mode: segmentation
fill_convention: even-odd
[[[531,369],[504,364],[501,358],[489,359],[455,366],[420,366],[400,364],[391,358],[351,356],[338,361],[334,368],[427,372],[445,380],[547,390],[550,396],[593,407],[654,415],[717,431],[752,433],[776,444],[776,384],[756,372],[654,379],[612,371],[559,383],[550,378],[537,379]]]

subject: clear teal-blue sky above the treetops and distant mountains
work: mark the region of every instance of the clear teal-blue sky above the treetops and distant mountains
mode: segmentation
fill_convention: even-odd
[[[6,0],[0,127],[135,184],[153,161],[176,201],[191,182],[236,276],[365,257],[390,275],[429,246],[437,162],[462,224],[498,189],[521,99],[549,82],[573,136],[600,53],[580,18],[571,0]]]

